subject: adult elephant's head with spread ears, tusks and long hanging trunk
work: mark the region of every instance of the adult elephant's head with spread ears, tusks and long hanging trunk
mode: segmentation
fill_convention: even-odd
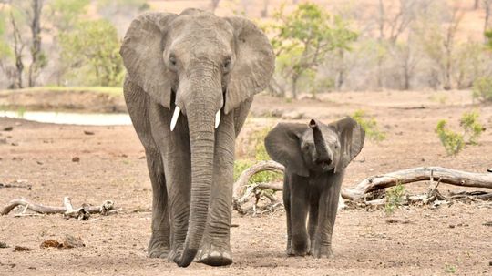
[[[179,266],[196,255],[210,203],[215,129],[220,116],[264,89],[274,70],[268,38],[251,21],[197,9],[139,15],[120,54],[129,79],[190,129],[190,223]]]

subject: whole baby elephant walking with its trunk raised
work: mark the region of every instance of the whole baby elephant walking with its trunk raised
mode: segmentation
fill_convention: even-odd
[[[329,125],[317,120],[309,125],[281,123],[267,135],[268,154],[285,166],[288,255],[333,257],[333,226],[344,170],[363,146],[364,129],[349,117]]]

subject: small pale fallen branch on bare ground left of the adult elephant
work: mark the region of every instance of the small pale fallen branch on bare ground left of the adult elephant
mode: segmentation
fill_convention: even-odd
[[[80,208],[74,209],[69,197],[63,199],[63,207],[45,206],[36,204],[27,199],[13,199],[5,207],[0,210],[0,215],[7,215],[10,211],[14,210],[17,206],[24,206],[25,210],[32,210],[41,214],[63,214],[67,218],[77,218],[78,220],[87,220],[90,214],[99,213],[101,215],[108,215],[110,210],[113,210],[114,202],[106,200],[100,206],[87,206],[83,205]]]

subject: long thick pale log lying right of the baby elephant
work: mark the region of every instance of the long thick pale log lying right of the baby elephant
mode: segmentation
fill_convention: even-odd
[[[377,175],[357,184],[353,189],[342,189],[343,199],[362,199],[364,194],[418,181],[440,179],[439,182],[460,187],[492,189],[492,173],[473,173],[441,167],[419,167]]]

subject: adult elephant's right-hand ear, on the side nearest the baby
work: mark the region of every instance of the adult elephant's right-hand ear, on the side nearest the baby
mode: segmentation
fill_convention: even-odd
[[[275,69],[275,55],[268,37],[250,20],[238,16],[226,20],[234,28],[236,40],[236,61],[224,107],[228,114],[268,86]]]

